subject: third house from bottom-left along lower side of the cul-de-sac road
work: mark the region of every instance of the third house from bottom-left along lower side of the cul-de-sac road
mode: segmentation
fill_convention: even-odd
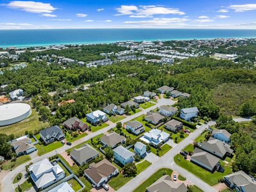
[[[125,142],[125,137],[117,134],[116,132],[111,132],[107,134],[103,134],[100,141],[103,145],[107,145],[108,147],[114,148],[119,143]]]

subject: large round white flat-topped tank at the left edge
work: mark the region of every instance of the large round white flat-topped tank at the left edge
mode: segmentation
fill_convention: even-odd
[[[26,103],[10,103],[0,106],[0,126],[17,123],[31,114],[31,107]]]

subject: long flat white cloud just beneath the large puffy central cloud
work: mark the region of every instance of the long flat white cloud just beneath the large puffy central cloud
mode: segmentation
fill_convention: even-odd
[[[125,21],[126,24],[139,24],[139,25],[170,25],[170,23],[179,23],[179,25],[186,25],[185,21],[188,21],[187,18],[154,18],[152,20],[145,21]]]

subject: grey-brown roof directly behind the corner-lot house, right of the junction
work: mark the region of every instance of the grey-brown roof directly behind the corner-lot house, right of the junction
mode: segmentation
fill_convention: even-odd
[[[233,153],[233,149],[230,148],[231,147],[230,145],[218,139],[214,139],[212,137],[207,142],[203,141],[202,147],[211,149],[216,153],[221,154],[222,156],[224,156],[226,153],[230,153],[230,154]]]

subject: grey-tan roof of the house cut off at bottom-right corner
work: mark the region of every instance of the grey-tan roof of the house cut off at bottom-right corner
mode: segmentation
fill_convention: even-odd
[[[254,192],[256,189],[255,179],[251,178],[243,171],[231,173],[229,175],[226,175],[224,178],[228,178],[231,184],[243,187],[245,189],[244,191],[246,192]]]

